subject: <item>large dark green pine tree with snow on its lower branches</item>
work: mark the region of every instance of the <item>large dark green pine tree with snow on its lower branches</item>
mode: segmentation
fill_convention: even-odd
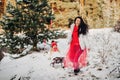
[[[37,43],[43,39],[51,39],[56,34],[47,28],[50,20],[54,19],[47,0],[23,0],[16,6],[8,5],[7,12],[1,21],[5,30],[4,43],[10,53],[21,53],[25,45],[33,45],[37,50]]]

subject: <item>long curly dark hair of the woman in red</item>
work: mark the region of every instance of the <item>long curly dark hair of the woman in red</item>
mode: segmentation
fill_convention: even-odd
[[[88,25],[83,21],[82,17],[80,17],[80,16],[75,18],[74,23],[75,23],[77,18],[80,19],[80,25],[78,28],[78,35],[80,35],[80,34],[86,35],[88,33]]]

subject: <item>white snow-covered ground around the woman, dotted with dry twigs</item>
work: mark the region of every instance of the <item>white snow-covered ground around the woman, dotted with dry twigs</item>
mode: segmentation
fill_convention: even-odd
[[[120,34],[111,28],[91,29],[88,38],[89,64],[77,76],[60,64],[52,67],[49,52],[33,52],[18,59],[5,53],[0,62],[0,80],[120,80]],[[65,56],[67,38],[56,41],[60,53],[54,54]]]

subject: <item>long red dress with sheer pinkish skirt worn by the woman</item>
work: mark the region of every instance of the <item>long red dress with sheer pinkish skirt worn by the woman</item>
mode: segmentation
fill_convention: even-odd
[[[64,59],[64,67],[78,69],[79,67],[86,66],[86,49],[82,50],[79,42],[78,27],[74,26],[72,41]]]

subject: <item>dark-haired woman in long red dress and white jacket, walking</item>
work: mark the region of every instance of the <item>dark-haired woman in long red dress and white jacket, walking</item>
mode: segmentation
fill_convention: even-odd
[[[69,34],[69,50],[64,59],[64,67],[72,67],[75,75],[80,71],[79,68],[86,66],[88,25],[81,17],[76,17],[74,24],[71,25]]]

